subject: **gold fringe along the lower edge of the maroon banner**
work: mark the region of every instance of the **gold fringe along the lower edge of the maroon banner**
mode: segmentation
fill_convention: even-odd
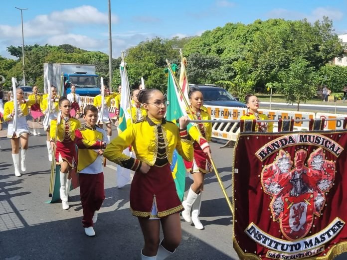
[[[247,259],[247,260],[261,260],[260,257],[254,255],[254,254],[249,254],[249,253],[244,253],[240,246],[238,245],[235,237],[232,239],[233,241],[233,246],[234,249],[239,256],[240,259]],[[305,258],[305,260],[333,260],[339,255],[346,253],[347,252],[347,241],[341,242],[337,245],[331,246],[331,249],[326,253],[326,256],[323,257],[313,257],[313,258]]]

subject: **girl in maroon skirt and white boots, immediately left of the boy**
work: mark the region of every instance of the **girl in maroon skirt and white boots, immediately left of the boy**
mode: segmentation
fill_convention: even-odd
[[[71,118],[71,103],[66,97],[59,99],[59,109],[61,110],[61,120],[57,126],[57,119],[53,119],[50,124],[50,146],[54,148],[56,138],[55,159],[60,165],[60,199],[64,210],[69,209],[67,199],[69,197],[71,186],[72,168],[76,168],[77,153],[75,147],[75,130],[81,127],[81,123]],[[57,135],[55,136],[56,129]]]

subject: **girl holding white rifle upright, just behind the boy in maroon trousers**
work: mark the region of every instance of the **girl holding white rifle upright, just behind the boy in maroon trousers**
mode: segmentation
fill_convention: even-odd
[[[98,119],[99,127],[102,128],[102,125],[106,124],[107,139],[109,143],[111,140],[111,135],[112,135],[111,120],[109,118],[109,107],[111,107],[111,99],[116,98],[118,96],[118,93],[113,93],[113,94],[109,93],[109,95],[107,95],[108,92],[107,92],[106,86],[104,86],[104,92],[105,92],[105,104],[104,104],[103,118],[100,117],[100,114],[101,114],[100,110],[102,108],[101,94],[94,98],[93,105],[99,109],[99,119]]]

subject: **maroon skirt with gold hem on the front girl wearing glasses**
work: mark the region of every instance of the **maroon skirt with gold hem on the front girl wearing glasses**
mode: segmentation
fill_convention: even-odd
[[[149,218],[153,204],[158,217],[163,218],[181,212],[170,163],[163,167],[151,166],[148,173],[135,172],[130,188],[130,209],[136,217]]]

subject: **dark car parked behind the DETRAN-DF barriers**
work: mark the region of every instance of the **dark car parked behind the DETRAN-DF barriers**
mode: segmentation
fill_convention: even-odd
[[[228,91],[216,85],[195,85],[190,87],[198,88],[203,95],[203,104],[218,107],[247,108],[246,104],[236,100]]]

